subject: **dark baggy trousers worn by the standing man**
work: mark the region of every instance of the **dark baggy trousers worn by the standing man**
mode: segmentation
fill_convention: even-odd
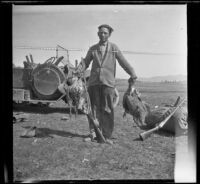
[[[99,121],[99,128],[105,138],[110,138],[114,129],[114,88],[106,85],[95,85],[88,87],[88,93],[92,112]],[[92,133],[94,132],[93,124],[90,118],[88,121],[90,133]]]

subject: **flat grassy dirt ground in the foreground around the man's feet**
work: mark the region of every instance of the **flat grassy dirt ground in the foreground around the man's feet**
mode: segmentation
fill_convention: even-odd
[[[48,108],[13,109],[13,113],[27,117],[13,124],[14,181],[174,179],[176,142],[187,147],[187,135],[177,138],[155,133],[141,141],[143,130],[130,115],[123,118],[120,102],[115,109],[114,144],[84,142],[88,135],[86,116],[73,114],[70,119],[64,106],[59,102]],[[21,137],[32,126],[37,127],[37,136]]]

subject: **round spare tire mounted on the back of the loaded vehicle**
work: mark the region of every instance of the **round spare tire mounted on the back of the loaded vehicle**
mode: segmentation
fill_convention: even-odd
[[[40,100],[57,100],[62,93],[58,86],[64,81],[63,71],[52,63],[39,64],[32,71],[32,90]]]

